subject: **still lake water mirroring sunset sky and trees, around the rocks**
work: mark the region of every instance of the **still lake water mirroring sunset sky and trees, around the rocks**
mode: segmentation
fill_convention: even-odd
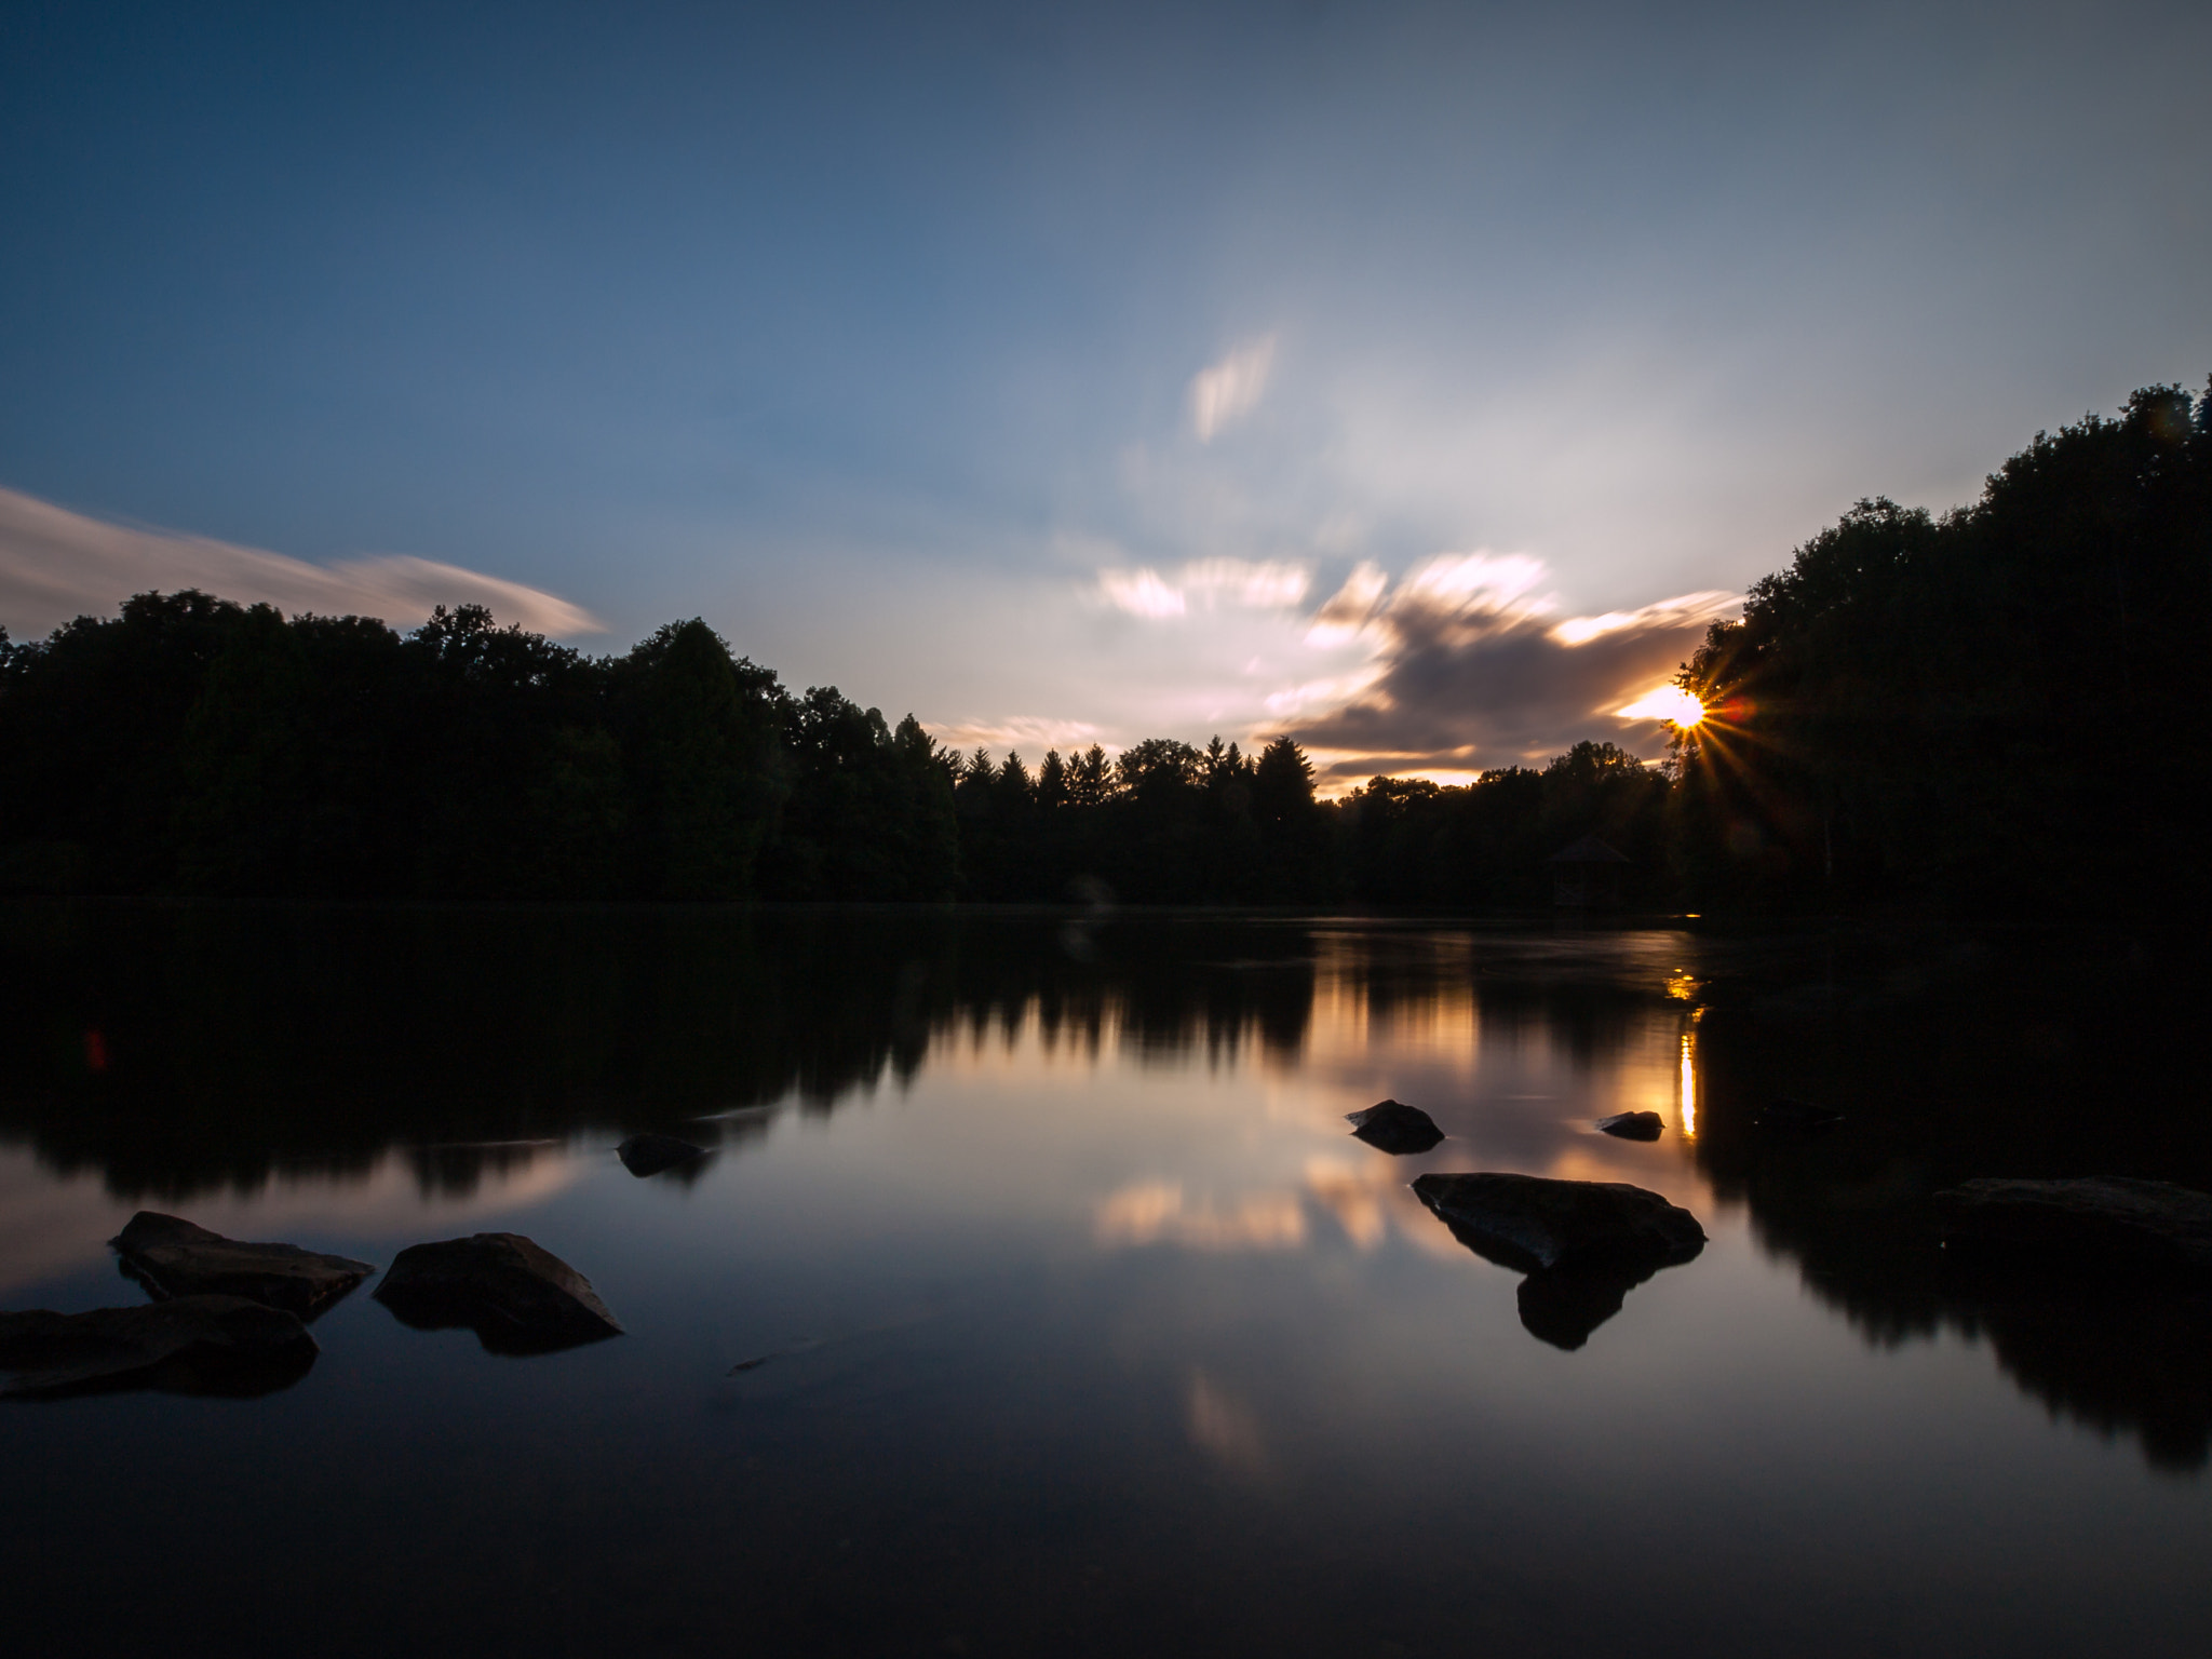
[[[376,1263],[526,1232],[628,1327],[502,1358],[372,1279],[288,1389],[0,1402],[18,1652],[2205,1652],[2205,1303],[1969,1270],[1918,1208],[2212,1186],[2157,942],[4,925],[0,1307],[139,1301],[104,1241],[155,1208]],[[1776,1093],[1849,1117],[1761,1137]],[[1349,1139],[1383,1097],[1449,1139]],[[1593,1133],[1630,1108],[1663,1137]],[[635,1128],[719,1150],[635,1179]],[[1422,1170],[1712,1241],[1562,1347]]]

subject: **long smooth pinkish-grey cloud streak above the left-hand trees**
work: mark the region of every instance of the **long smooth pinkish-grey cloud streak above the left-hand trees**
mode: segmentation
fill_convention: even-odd
[[[38,637],[113,611],[133,593],[201,588],[288,613],[383,617],[411,626],[438,604],[482,604],[500,622],[560,639],[606,633],[557,595],[407,555],[307,564],[206,535],[133,529],[0,489],[0,624]]]

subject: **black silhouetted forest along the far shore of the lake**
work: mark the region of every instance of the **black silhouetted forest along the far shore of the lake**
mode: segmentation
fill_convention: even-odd
[[[703,622],[584,657],[142,593],[0,633],[0,889],[316,898],[1528,907],[1599,836],[1630,905],[2197,909],[2212,392],[2039,434],[1936,518],[1854,507],[1714,624],[1708,719],[1467,787],[1314,799],[1243,754],[942,750]]]

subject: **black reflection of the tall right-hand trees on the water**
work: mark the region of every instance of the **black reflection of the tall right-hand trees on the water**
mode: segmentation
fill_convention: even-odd
[[[1936,995],[1750,998],[1699,1031],[1697,1157],[1761,1241],[1876,1347],[1955,1329],[2055,1416],[2132,1436],[2161,1469],[2212,1462],[2212,1294],[2095,1263],[1960,1256],[1927,1194],[1975,1175],[2159,1175],[2212,1188],[2201,1124],[2126,1102],[2183,1084],[2172,1009],[2137,975],[2046,951]],[[1898,984],[1898,978],[1874,980]],[[2035,1033],[2095,1033],[2095,1044]],[[1776,1095],[1845,1108],[1816,1135],[1752,1115]]]

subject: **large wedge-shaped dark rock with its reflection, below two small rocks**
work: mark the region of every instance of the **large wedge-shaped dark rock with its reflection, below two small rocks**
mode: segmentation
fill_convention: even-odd
[[[1697,1217],[1626,1181],[1537,1175],[1425,1175],[1413,1192],[1484,1261],[1528,1274],[1526,1332],[1577,1349],[1628,1292],[1705,1248]]]

